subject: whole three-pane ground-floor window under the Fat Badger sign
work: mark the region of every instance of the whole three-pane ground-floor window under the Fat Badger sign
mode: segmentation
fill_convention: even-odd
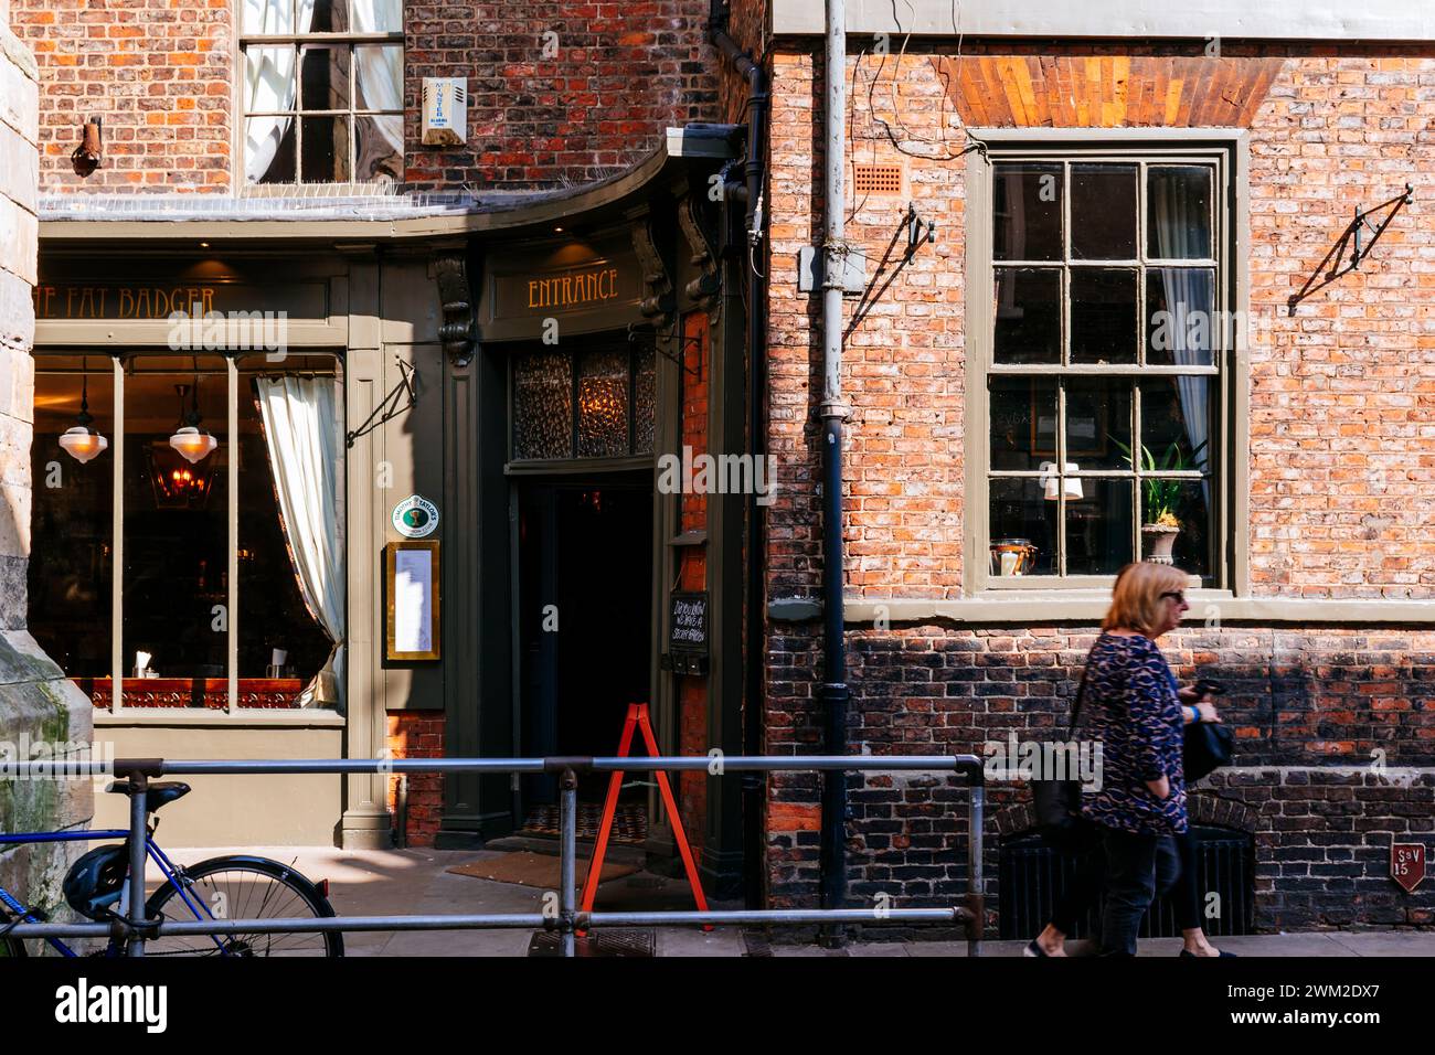
[[[66,675],[102,708],[115,685],[125,708],[337,706],[337,357],[44,355],[34,388],[29,622]]]

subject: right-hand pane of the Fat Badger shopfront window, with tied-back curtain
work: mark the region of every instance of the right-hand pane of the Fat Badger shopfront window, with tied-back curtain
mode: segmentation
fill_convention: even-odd
[[[343,554],[344,398],[333,363],[304,376],[263,365],[240,376],[241,708],[296,705],[329,662],[324,623],[343,637],[342,594],[326,596],[321,558]],[[333,548],[316,551],[316,540]],[[293,558],[303,553],[307,587]],[[314,688],[316,702],[339,702],[331,670]]]

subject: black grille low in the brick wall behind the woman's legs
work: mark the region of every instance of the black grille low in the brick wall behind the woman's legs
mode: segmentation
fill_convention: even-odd
[[[1256,870],[1251,837],[1227,828],[1195,830],[1200,840],[1197,870],[1200,890],[1220,894],[1221,913],[1207,919],[1213,937],[1248,934],[1256,917]],[[1049,847],[1040,835],[1019,835],[1002,844],[997,873],[997,933],[1003,939],[1036,934],[1050,919],[1052,906],[1071,881],[1075,858]],[[1174,894],[1174,891],[1171,891]],[[1157,899],[1141,922],[1142,937],[1177,937],[1171,894]],[[1093,909],[1092,911],[1099,911]],[[1091,936],[1091,916],[1069,937]]]

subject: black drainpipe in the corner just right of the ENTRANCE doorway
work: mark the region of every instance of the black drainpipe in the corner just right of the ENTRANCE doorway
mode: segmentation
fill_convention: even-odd
[[[739,76],[748,80],[748,158],[743,164],[745,182],[730,187],[729,194],[746,202],[748,248],[756,255],[762,238],[762,181],[766,158],[768,131],[768,75],[751,55],[742,50],[728,34],[728,7],[723,0],[712,0],[707,11],[707,39],[732,63]],[[748,283],[748,449],[755,458],[766,454],[766,395],[768,395],[768,330],[766,330],[766,287],[763,276],[753,267],[753,260],[743,260]],[[769,477],[769,485],[772,478]],[[763,725],[763,656],[766,655],[766,568],[762,507],[759,495],[748,495],[748,666],[745,670],[745,698],[742,749],[748,755],[762,754]],[[766,840],[762,831],[763,774],[742,775],[742,818],[743,818],[743,896],[749,909],[763,904],[763,863]]]

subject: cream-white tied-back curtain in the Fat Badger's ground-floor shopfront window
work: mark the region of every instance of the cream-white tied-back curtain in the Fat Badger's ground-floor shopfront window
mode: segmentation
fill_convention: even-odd
[[[304,604],[334,643],[300,706],[343,703],[343,393],[334,378],[257,378],[284,540]]]

